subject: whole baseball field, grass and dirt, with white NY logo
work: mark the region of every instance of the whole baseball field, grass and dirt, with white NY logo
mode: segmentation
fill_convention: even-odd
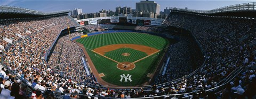
[[[163,49],[170,43],[166,38],[135,32],[92,35],[76,42],[90,57],[93,64],[89,65],[95,68],[92,71],[97,80],[117,86],[148,83],[164,55]]]

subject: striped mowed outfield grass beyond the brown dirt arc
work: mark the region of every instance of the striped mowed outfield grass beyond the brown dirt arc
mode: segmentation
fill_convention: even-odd
[[[76,41],[82,43],[86,49],[90,50],[109,44],[140,44],[160,50],[165,47],[167,42],[164,38],[156,35],[135,32],[98,34]]]

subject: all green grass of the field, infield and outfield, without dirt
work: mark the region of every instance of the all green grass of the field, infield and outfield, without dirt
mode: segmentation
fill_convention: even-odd
[[[154,72],[159,59],[163,56],[163,51],[161,49],[165,48],[169,44],[169,41],[162,37],[134,32],[98,34],[91,37],[81,38],[76,41],[84,45],[98,73],[103,73],[105,75],[105,77],[101,78],[108,83],[119,86],[135,86],[148,82],[149,77],[147,77],[147,74]],[[107,46],[110,44],[140,44],[143,46],[153,47],[161,51],[141,61],[136,62],[136,67],[134,69],[126,71],[118,69],[116,67],[116,62],[91,51],[92,49]],[[129,51],[129,53],[131,54],[130,57],[121,56],[123,52],[127,51]],[[106,52],[105,56],[119,62],[133,62],[147,55],[146,53],[138,50],[121,48],[114,51]],[[124,80],[123,82],[120,82],[120,75],[123,74],[132,75],[132,82],[124,82]]]

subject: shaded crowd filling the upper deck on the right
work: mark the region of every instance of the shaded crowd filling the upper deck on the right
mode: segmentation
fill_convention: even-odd
[[[202,88],[208,89],[214,87],[238,66],[246,66],[250,61],[255,60],[252,54],[253,47],[249,47],[249,43],[255,42],[256,31],[255,26],[252,25],[255,22],[250,19],[217,18],[172,12],[164,25],[187,29],[201,43],[206,52],[206,62],[196,72],[201,75],[199,76],[201,79],[189,78],[188,81],[195,84],[199,82],[203,85]],[[245,35],[248,38],[241,41]],[[255,74],[254,70],[251,72]]]

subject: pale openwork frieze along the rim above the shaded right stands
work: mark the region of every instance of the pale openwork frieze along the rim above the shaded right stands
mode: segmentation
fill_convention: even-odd
[[[205,14],[233,12],[233,11],[256,11],[256,2],[235,4],[235,5],[215,8],[214,10],[210,10],[210,11],[189,10],[187,8],[185,9],[185,8],[176,8],[176,7],[171,7],[170,10],[178,10],[178,11],[186,11],[186,12],[194,12],[194,13],[205,13]]]

